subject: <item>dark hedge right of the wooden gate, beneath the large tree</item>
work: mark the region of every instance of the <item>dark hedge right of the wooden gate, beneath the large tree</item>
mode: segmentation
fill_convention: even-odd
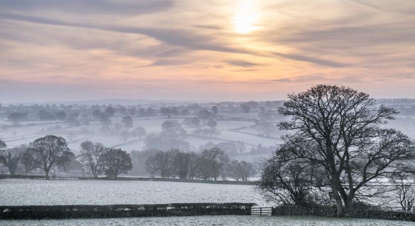
[[[299,205],[283,205],[273,208],[273,215],[313,215],[313,216],[337,216],[336,207],[304,207]],[[344,210],[345,217],[352,218],[370,218],[370,219],[387,219],[387,220],[404,220],[415,221],[415,212],[411,211],[393,211],[384,209],[351,209]]]

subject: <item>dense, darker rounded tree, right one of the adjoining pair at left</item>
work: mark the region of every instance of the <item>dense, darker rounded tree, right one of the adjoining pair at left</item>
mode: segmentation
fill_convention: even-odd
[[[111,148],[104,154],[106,174],[117,178],[121,173],[128,173],[132,169],[130,155],[121,149]]]

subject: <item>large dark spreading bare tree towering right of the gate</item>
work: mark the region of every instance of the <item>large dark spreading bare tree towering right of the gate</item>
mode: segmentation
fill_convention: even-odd
[[[284,139],[291,159],[321,166],[343,216],[343,204],[352,207],[354,197],[368,182],[408,166],[413,160],[410,139],[382,125],[397,111],[377,106],[367,93],[345,86],[316,85],[305,92],[289,94],[279,108],[291,117],[279,124],[291,135]]]

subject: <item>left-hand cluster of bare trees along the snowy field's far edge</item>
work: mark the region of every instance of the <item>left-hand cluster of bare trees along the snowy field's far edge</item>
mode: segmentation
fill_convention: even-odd
[[[81,144],[78,156],[69,150],[64,138],[53,135],[36,139],[29,146],[6,147],[0,140],[0,163],[6,165],[12,175],[16,173],[19,163],[24,167],[25,173],[41,170],[46,179],[56,168],[65,171],[69,167],[81,169],[84,166],[94,176],[105,173],[110,177],[127,173],[132,168],[131,158],[126,151],[90,141]]]

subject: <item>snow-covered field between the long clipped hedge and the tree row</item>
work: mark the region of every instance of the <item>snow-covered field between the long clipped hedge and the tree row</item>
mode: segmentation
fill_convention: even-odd
[[[107,180],[0,180],[0,205],[255,202],[251,185]]]

